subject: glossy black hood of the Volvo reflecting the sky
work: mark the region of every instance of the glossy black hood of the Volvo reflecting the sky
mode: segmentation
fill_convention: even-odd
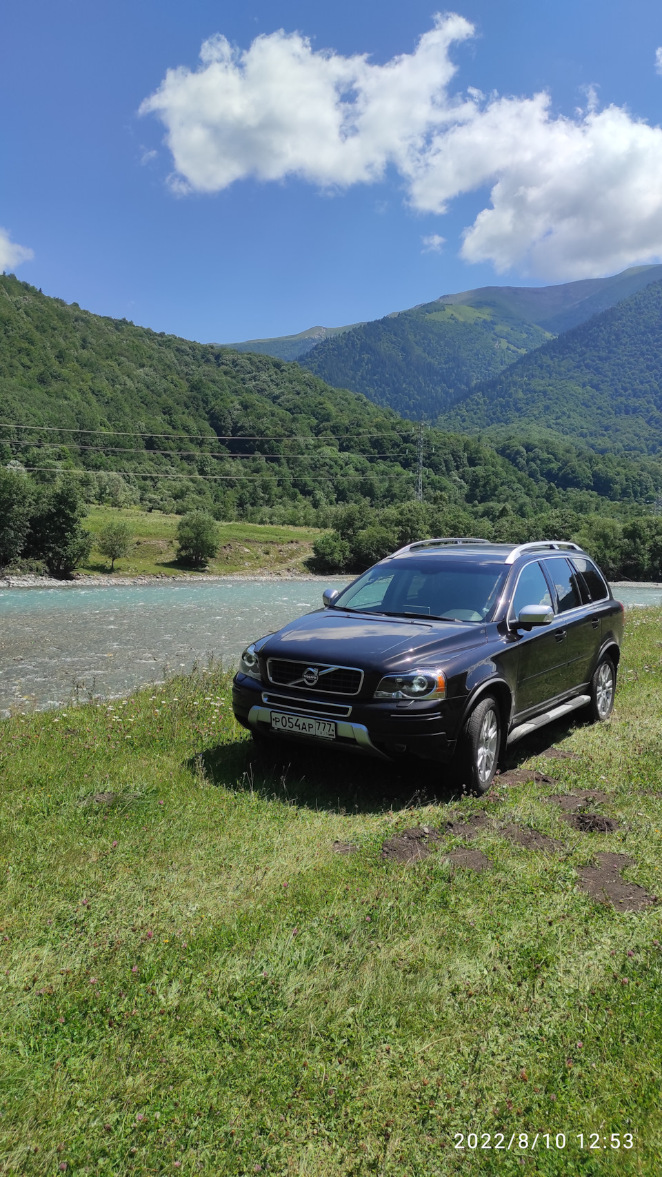
[[[433,621],[319,610],[299,617],[257,643],[263,658],[383,669],[412,659],[454,654],[484,645],[483,625]]]

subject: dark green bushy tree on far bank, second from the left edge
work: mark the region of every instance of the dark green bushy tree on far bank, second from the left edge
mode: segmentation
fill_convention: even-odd
[[[29,519],[26,554],[45,560],[54,577],[69,577],[86,560],[94,537],[81,526],[85,505],[73,478],[39,487]]]

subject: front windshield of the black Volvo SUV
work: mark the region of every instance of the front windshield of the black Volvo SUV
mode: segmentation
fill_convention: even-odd
[[[369,568],[333,601],[335,609],[389,617],[483,621],[508,568],[479,559],[425,554]]]

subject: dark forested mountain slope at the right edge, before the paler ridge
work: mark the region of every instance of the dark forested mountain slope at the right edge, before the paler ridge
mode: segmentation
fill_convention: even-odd
[[[525,355],[444,413],[446,428],[543,426],[594,448],[662,451],[662,281]]]

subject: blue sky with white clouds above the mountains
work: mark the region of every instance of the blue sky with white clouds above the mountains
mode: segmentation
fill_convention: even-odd
[[[101,314],[232,341],[662,260],[662,7],[435,11],[5,6],[0,226],[33,252],[0,238],[6,268]]]

